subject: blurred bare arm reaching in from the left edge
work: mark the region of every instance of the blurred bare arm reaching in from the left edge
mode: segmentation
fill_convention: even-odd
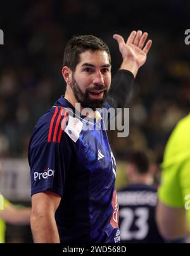
[[[0,212],[0,218],[9,224],[24,225],[30,224],[31,208],[16,208],[15,205],[9,203],[4,210]]]

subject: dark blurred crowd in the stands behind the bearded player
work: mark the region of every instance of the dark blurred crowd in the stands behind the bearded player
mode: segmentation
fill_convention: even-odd
[[[111,131],[110,142],[118,158],[133,148],[162,161],[170,132],[190,109],[190,46],[184,44],[190,6],[185,1],[182,6],[178,1],[148,1],[152,11],[147,15],[143,3],[132,2],[117,1],[117,8],[112,0],[1,4],[0,157],[27,156],[37,119],[65,91],[63,50],[73,34],[94,34],[105,40],[114,75],[121,56],[112,35],[127,37],[131,30],[141,29],[149,32],[153,46],[126,105],[130,108],[129,137],[117,138],[117,132]],[[177,19],[184,19],[182,27]]]

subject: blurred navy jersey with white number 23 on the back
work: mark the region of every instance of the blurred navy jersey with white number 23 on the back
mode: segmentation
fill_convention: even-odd
[[[157,192],[154,187],[131,184],[118,192],[122,243],[164,243],[155,220]]]

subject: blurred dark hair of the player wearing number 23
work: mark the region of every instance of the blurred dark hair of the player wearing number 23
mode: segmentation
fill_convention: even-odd
[[[144,152],[141,151],[130,151],[127,152],[125,160],[128,163],[132,163],[136,166],[137,172],[140,174],[148,173],[149,171],[149,160]]]

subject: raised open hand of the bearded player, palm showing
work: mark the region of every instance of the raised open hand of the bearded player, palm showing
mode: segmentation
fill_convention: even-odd
[[[141,30],[132,31],[125,43],[124,38],[118,34],[114,34],[113,38],[117,40],[120,53],[122,54],[123,62],[120,69],[125,69],[132,72],[136,77],[139,68],[146,62],[146,57],[151,48],[152,41],[148,40],[147,32]]]

